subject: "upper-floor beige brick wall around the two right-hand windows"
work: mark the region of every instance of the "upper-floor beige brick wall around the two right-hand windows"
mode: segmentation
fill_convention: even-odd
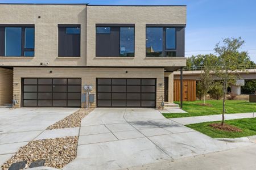
[[[185,66],[184,56],[146,58],[146,24],[186,24],[185,6],[88,6],[88,66]],[[96,57],[96,24],[135,24],[135,57]]]

